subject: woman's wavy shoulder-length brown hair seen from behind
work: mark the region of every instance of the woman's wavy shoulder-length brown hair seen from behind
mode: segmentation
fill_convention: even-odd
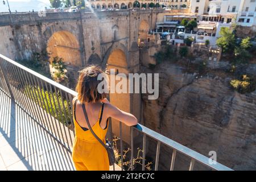
[[[94,103],[106,98],[106,93],[99,93],[97,90],[98,84],[102,81],[97,79],[101,73],[104,72],[96,65],[90,65],[80,71],[76,92],[81,103]]]

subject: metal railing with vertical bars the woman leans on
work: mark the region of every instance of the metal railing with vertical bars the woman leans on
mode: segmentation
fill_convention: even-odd
[[[38,122],[44,130],[54,137],[61,146],[72,152],[74,138],[74,126],[72,119],[72,98],[77,95],[71,89],[50,80],[16,63],[15,61],[0,54],[0,90],[5,92],[16,104]],[[154,169],[158,170],[160,147],[167,146],[172,149],[170,156],[170,170],[174,170],[177,154],[182,154],[190,159],[189,170],[193,170],[195,163],[203,164],[205,167],[214,170],[232,170],[220,163],[209,164],[209,158],[191,150],[188,147],[164,137],[163,135],[138,124],[130,128],[130,169],[134,169],[134,131],[143,135],[142,139],[142,170],[145,169],[146,142],[147,138],[155,140],[156,155]],[[113,139],[112,122],[109,125],[110,137]],[[123,170],[123,137],[122,125],[119,122],[119,151],[121,151],[121,169]],[[113,166],[114,168],[114,166]]]

